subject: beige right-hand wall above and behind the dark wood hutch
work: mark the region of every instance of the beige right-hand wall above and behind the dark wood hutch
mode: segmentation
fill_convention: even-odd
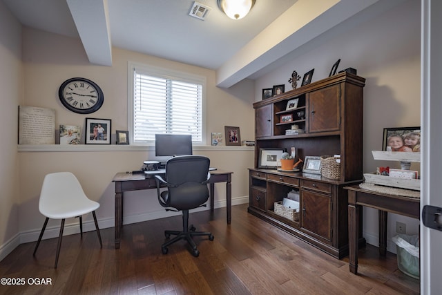
[[[372,150],[382,149],[383,128],[420,125],[420,1],[407,1],[369,22],[354,19],[321,36],[313,46],[298,50],[297,56],[277,70],[256,80],[255,99],[262,88],[287,82],[296,70],[301,76],[314,68],[312,82],[328,77],[332,65],[340,60],[338,70],[356,68],[365,77],[363,171],[376,166],[399,168],[396,162],[379,162]],[[301,81],[300,81],[301,82]],[[300,85],[299,82],[299,85]],[[413,164],[412,169],[419,169]],[[364,209],[364,236],[378,245],[377,211]],[[396,220],[407,223],[407,232],[417,234],[419,221],[389,214],[388,238],[396,234]],[[395,251],[390,242],[389,250]]]

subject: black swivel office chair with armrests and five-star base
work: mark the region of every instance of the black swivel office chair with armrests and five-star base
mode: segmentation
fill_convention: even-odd
[[[180,155],[166,162],[166,180],[160,175],[155,175],[157,182],[158,201],[162,207],[173,207],[166,211],[182,211],[182,231],[164,231],[166,238],[176,235],[175,238],[164,242],[161,246],[162,254],[167,254],[169,245],[178,240],[187,240],[192,247],[192,255],[198,257],[198,251],[193,236],[209,236],[209,231],[195,231],[195,227],[189,227],[189,209],[206,206],[204,203],[209,199],[209,158],[201,155]],[[166,186],[167,191],[160,193],[160,185]]]

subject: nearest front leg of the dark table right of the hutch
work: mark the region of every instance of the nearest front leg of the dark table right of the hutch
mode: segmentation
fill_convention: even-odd
[[[359,214],[361,206],[356,205],[356,192],[348,192],[348,247],[349,269],[353,274],[358,274],[358,237]]]

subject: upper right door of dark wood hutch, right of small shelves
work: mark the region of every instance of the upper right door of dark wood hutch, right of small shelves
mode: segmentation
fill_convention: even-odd
[[[340,85],[309,93],[309,132],[339,131]]]

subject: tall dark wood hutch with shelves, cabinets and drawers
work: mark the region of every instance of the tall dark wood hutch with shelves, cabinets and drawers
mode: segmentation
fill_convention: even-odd
[[[255,168],[249,169],[249,213],[336,258],[348,254],[344,187],[363,179],[364,86],[363,77],[340,73],[253,104],[256,145]],[[287,102],[295,98],[297,108],[287,111]],[[304,111],[305,116],[299,117],[298,111]],[[291,115],[293,121],[281,122],[281,115]],[[292,124],[305,133],[285,135]],[[296,148],[296,160],[307,155],[340,155],[340,179],[257,168],[260,149],[281,148],[290,153],[292,146]],[[300,217],[295,221],[274,212],[274,203],[292,190],[300,194]],[[365,245],[362,236],[360,244]]]

